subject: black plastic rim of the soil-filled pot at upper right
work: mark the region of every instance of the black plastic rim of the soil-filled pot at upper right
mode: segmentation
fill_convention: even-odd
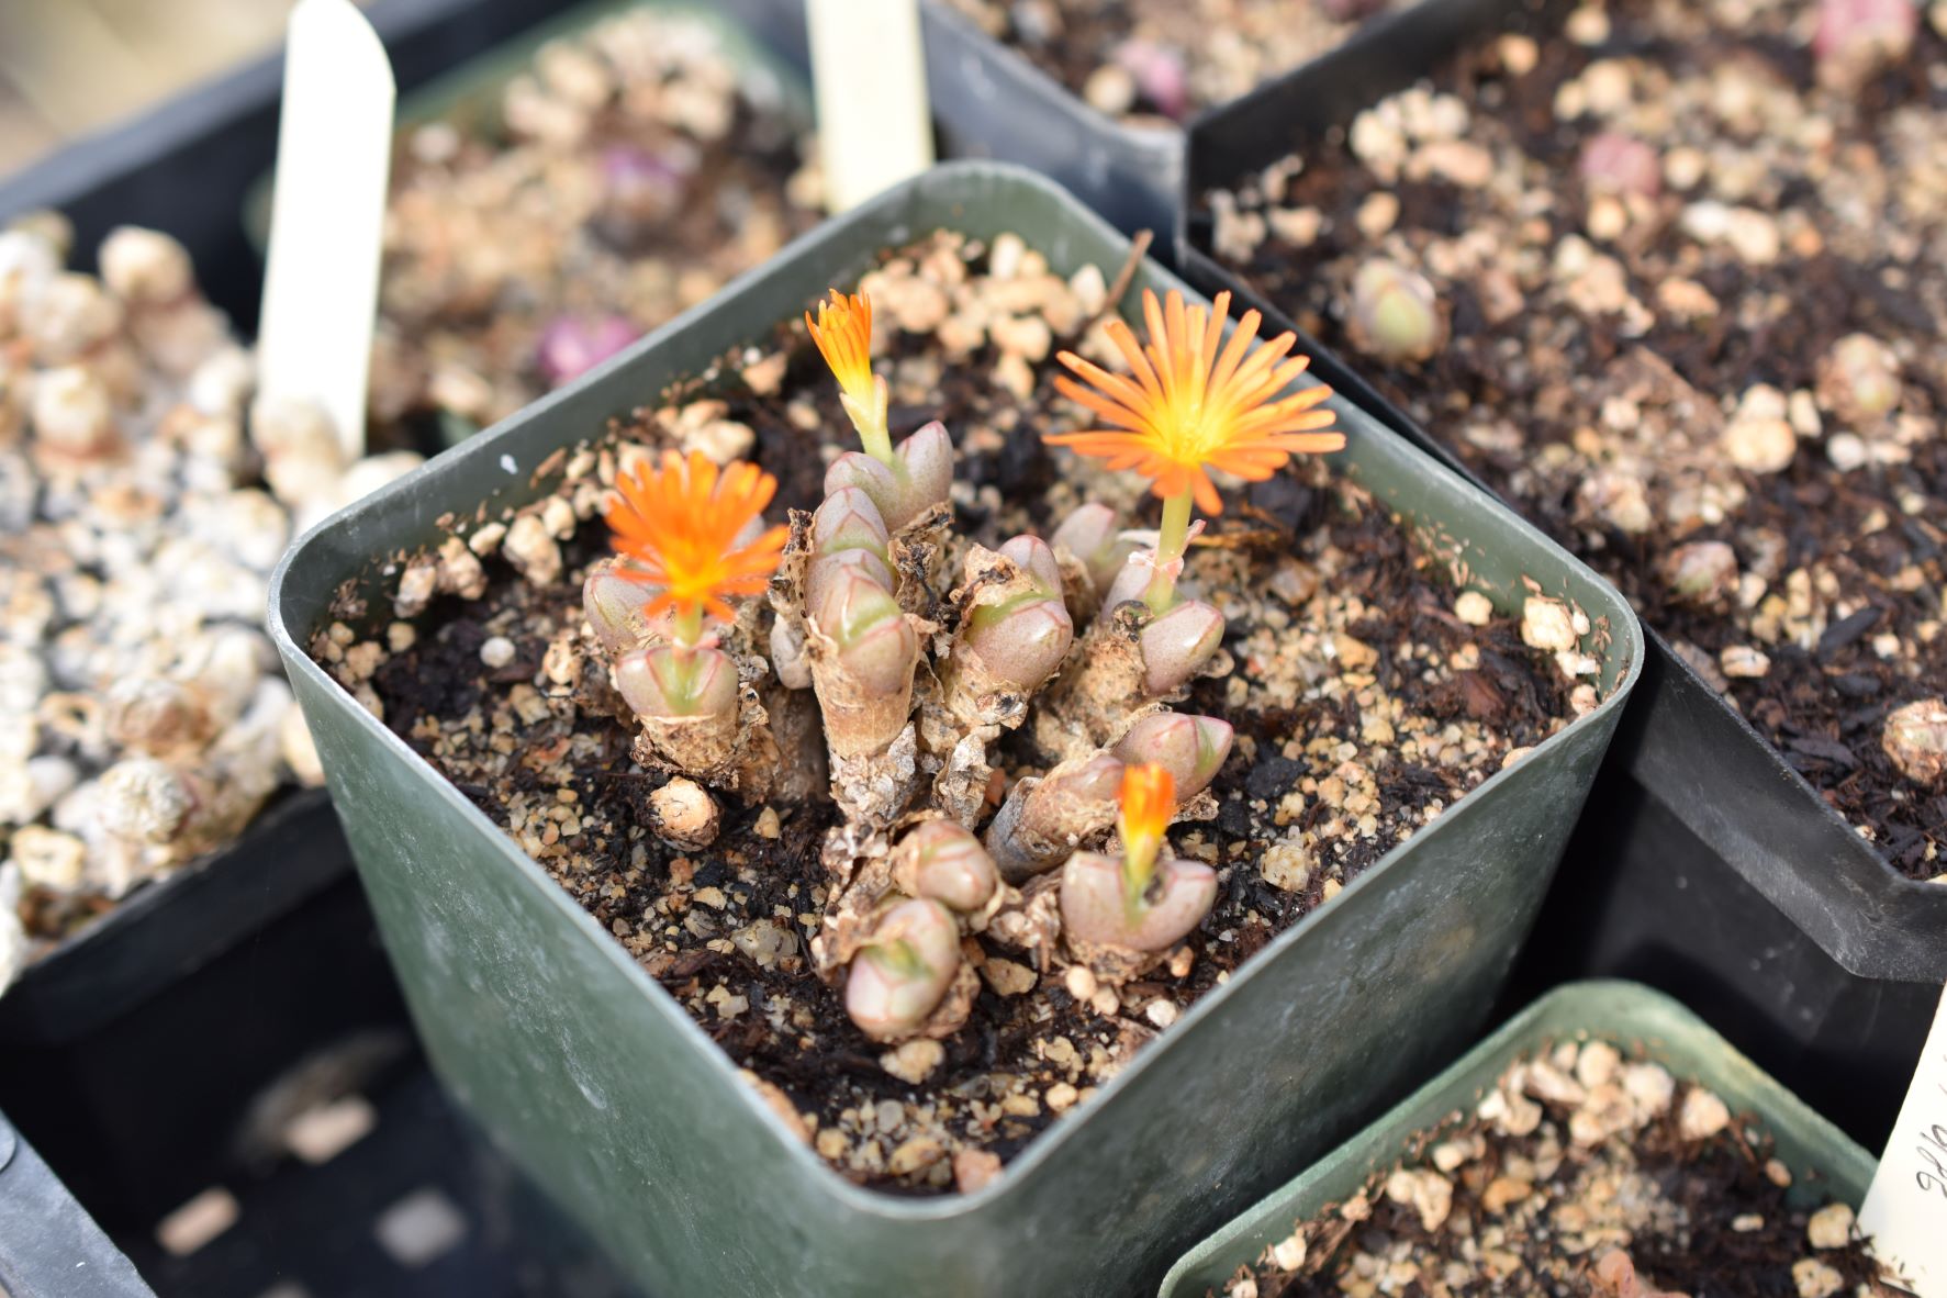
[[[1231,290],[1275,329],[1293,329],[1320,378],[1484,490],[1489,488],[1449,446],[1217,261],[1197,197],[1314,144],[1336,146],[1353,117],[1437,70],[1454,51],[1499,31],[1544,35],[1567,8],[1567,0],[1421,0],[1375,19],[1340,49],[1244,99],[1205,113],[1188,136],[1176,226],[1184,278],[1203,292]],[[1635,726],[1641,734],[1618,743],[1630,776],[1669,804],[1848,973],[1896,983],[1947,979],[1947,887],[1894,868],[1655,627],[1645,627],[1645,640],[1651,662],[1637,703],[1643,716],[1632,718],[1641,722]],[[1731,749],[1721,753],[1719,778],[1690,778],[1686,755],[1721,743]],[[1727,778],[1735,778],[1739,792],[1729,813]],[[1758,806],[1770,804],[1756,833],[1739,823],[1737,810],[1752,806],[1743,802],[1745,794]]]

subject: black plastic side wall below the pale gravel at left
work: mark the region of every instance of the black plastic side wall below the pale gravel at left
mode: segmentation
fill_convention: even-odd
[[[321,790],[132,893],[0,996],[0,1105],[101,1220],[177,1207],[251,1103],[347,1039],[409,1028]]]

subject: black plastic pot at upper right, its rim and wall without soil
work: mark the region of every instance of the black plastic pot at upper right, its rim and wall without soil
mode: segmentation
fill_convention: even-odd
[[[1231,288],[1287,327],[1213,255],[1201,195],[1293,152],[1343,148],[1363,109],[1456,49],[1499,31],[1552,31],[1567,8],[1427,0],[1199,119],[1178,228],[1184,274],[1205,292]],[[1326,348],[1301,346],[1322,379],[1468,473]],[[1519,987],[1595,975],[1661,987],[1877,1146],[1947,981],[1947,889],[1896,872],[1661,634],[1651,629],[1647,640],[1643,685]]]

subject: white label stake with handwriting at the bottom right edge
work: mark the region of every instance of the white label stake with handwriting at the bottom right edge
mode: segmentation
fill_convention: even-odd
[[[1859,1230],[1873,1238],[1873,1255],[1908,1290],[1947,1298],[1947,992],[1865,1191]]]

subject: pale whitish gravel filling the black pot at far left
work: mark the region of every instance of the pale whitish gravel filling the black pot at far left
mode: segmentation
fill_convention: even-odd
[[[0,987],[136,883],[228,845],[317,757],[263,634],[290,535],[419,463],[347,465],[257,403],[189,255],[0,234]]]

